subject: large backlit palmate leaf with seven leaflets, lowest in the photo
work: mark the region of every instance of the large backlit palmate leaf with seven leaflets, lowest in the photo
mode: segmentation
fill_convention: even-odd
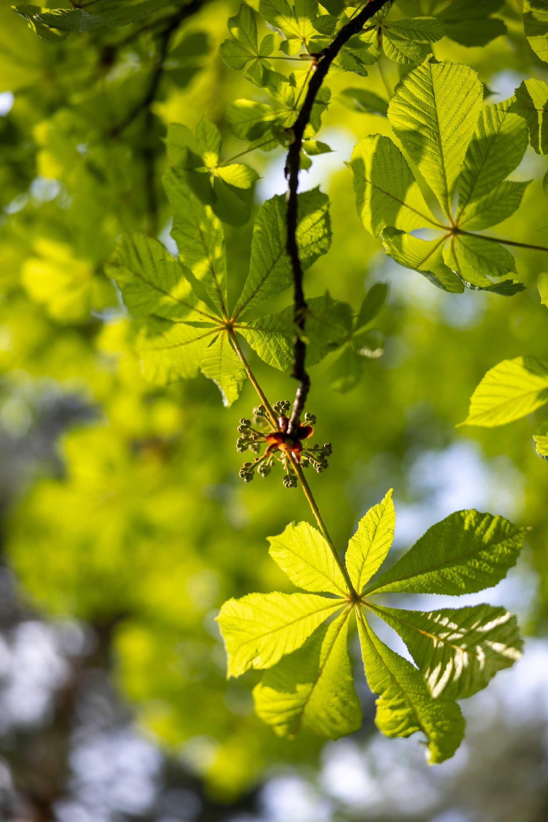
[[[388,492],[348,543],[347,570],[360,601],[341,594],[341,589],[348,591],[342,571],[325,538],[311,525],[288,525],[279,537],[270,538],[271,556],[293,582],[328,595],[257,593],[225,603],[218,621],[228,652],[228,676],[251,667],[270,669],[256,686],[254,700],[260,718],[279,736],[292,737],[301,727],[331,738],[355,731],[360,716],[346,647],[353,608],[366,678],[380,695],[378,727],[389,737],[423,732],[430,761],[441,762],[463,738],[464,721],[454,700],[485,687],[495,672],[518,658],[521,640],[515,618],[504,608],[488,605],[400,611],[376,605],[369,594],[403,589],[463,593],[463,586],[475,591],[496,584],[513,565],[524,532],[501,517],[458,511],[434,525],[393,569],[363,591],[385,558],[393,533]],[[393,570],[402,569],[406,561],[407,582],[390,583]],[[329,611],[323,611],[322,603]],[[375,636],[365,618],[369,611],[398,630],[420,670]]]

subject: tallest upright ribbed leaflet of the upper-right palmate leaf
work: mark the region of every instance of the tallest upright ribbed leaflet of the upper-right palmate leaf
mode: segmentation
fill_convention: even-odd
[[[472,68],[429,57],[403,76],[390,99],[390,124],[447,217],[482,95]]]

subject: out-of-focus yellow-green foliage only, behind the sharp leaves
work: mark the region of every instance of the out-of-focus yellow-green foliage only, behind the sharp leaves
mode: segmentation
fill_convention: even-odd
[[[402,3],[400,12],[396,3],[391,16],[416,14],[417,5]],[[481,47],[446,37],[435,44],[436,57],[471,65],[487,86],[510,83],[509,95],[527,77],[546,81],[546,64],[529,48],[515,6],[507,2],[497,12],[507,35]],[[256,718],[256,674],[225,681],[214,623],[226,598],[290,589],[269,560],[265,538],[290,520],[308,519],[309,511],[299,492],[272,478],[256,478],[251,486],[237,478],[238,419],[250,416],[256,404],[249,383],[233,408],[224,409],[217,387],[202,377],[162,388],[145,382],[134,332],[104,264],[123,230],[167,238],[171,211],[160,178],[168,165],[170,123],[194,131],[205,114],[221,131],[226,157],[245,150],[228,130],[224,111],[251,95],[251,86],[218,50],[238,7],[232,0],[207,2],[182,22],[150,111],[140,102],[157,67],[154,26],[161,28],[173,8],[122,28],[55,41],[36,37],[6,4],[0,10],[0,91],[15,95],[0,118],[0,420],[17,436],[6,411],[10,401],[23,387],[40,395],[51,381],[80,396],[95,415],[63,436],[61,473],[39,466],[27,483],[9,513],[7,558],[25,595],[44,613],[98,625],[116,621],[113,653],[122,693],[136,705],[140,721],[181,751],[211,792],[226,798],[271,765],[313,764],[320,756],[317,737],[280,740]],[[188,48],[179,48],[185,42],[199,46],[191,49],[192,59]],[[330,134],[354,145],[370,133],[391,134],[386,118],[362,106],[348,109],[338,99],[351,85],[385,100],[387,87],[393,90],[408,66],[384,57],[380,65],[382,72],[368,67],[365,78],[329,77],[326,140]],[[257,150],[246,157],[261,177],[268,175],[265,182],[279,174],[277,192],[284,190],[282,155]],[[532,527],[524,561],[539,580],[528,629],[542,632],[548,619],[548,466],[531,436],[542,412],[490,430],[455,431],[454,425],[495,363],[522,354],[546,359],[548,314],[536,290],[545,255],[515,250],[527,290],[511,300],[441,293],[417,273],[398,268],[380,240],[365,232],[343,164],[349,152],[336,157],[337,170],[324,185],[333,245],[307,274],[307,295],[329,289],[357,312],[375,281],[390,279],[391,290],[375,319],[385,335],[385,354],[360,358],[357,386],[342,397],[329,388],[335,354],[311,371],[316,431],[334,444],[329,472],[312,482],[334,543],[346,545],[357,519],[391,485],[397,500],[427,504],[410,478],[413,461],[458,441],[472,442],[490,470],[503,465],[523,484],[516,511]],[[313,169],[320,160],[311,159]],[[546,158],[527,149],[516,176],[534,182],[518,212],[497,227],[501,236],[546,242],[545,173]],[[249,266],[251,222],[225,231],[229,282],[238,293]],[[273,302],[273,310],[287,304]],[[271,401],[292,395],[288,375],[250,358]],[[494,513],[496,506],[494,497]]]

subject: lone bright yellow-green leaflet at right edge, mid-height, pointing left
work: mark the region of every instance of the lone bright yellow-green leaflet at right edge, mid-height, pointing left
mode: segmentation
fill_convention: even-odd
[[[535,357],[503,360],[490,368],[470,400],[460,425],[494,427],[512,423],[548,402],[548,363]]]

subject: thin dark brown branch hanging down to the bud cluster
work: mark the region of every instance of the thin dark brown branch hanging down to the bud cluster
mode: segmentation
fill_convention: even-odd
[[[348,43],[348,40],[361,31],[366,21],[370,20],[389,0],[369,0],[366,6],[361,9],[347,25],[338,32],[338,35],[316,58],[315,72],[311,76],[308,84],[306,97],[302,104],[297,120],[292,126],[292,144],[289,146],[288,157],[285,164],[285,176],[288,179],[288,215],[287,215],[287,252],[291,260],[293,272],[293,322],[296,326],[296,335],[293,349],[293,369],[292,376],[299,381],[299,386],[295,394],[291,418],[289,420],[288,433],[292,434],[299,424],[302,412],[306,404],[306,397],[310,390],[310,376],[306,372],[306,343],[302,339],[306,324],[306,299],[302,289],[302,266],[299,258],[299,248],[297,245],[297,189],[299,187],[300,155],[302,148],[302,138],[306,126],[310,122],[312,108],[315,98],[325,80],[329,67],[337,57],[339,51]]]

